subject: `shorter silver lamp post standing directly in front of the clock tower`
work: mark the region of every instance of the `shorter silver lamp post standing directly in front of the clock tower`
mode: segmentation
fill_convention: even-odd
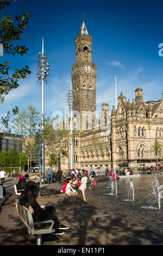
[[[70,150],[70,168],[73,169],[73,140],[72,140],[72,109],[73,109],[73,102],[74,102],[74,94],[72,90],[72,84],[70,90],[68,91],[68,106],[70,108],[70,136],[71,136],[71,150]]]

